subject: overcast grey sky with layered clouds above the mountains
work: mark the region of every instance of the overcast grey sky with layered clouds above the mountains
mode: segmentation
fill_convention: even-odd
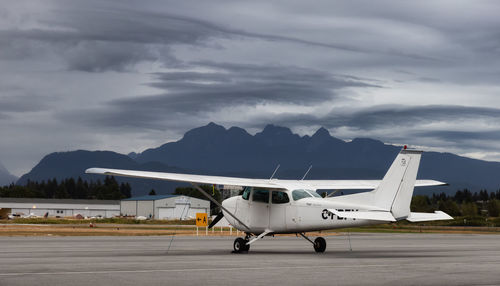
[[[313,5],[311,5],[313,3]],[[500,161],[498,1],[0,0],[0,161],[210,121]]]

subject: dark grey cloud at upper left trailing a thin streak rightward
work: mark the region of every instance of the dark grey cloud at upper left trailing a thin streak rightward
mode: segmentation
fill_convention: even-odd
[[[191,17],[140,9],[61,8],[52,17],[40,19],[49,28],[0,30],[2,58],[38,57],[56,53],[70,70],[101,72],[124,70],[141,61],[179,64],[168,49],[171,45],[212,45],[213,39],[250,38],[285,42],[365,54],[380,54],[417,60],[437,60],[430,56],[385,50],[376,47],[306,40],[231,29]],[[71,5],[68,5],[71,6]]]

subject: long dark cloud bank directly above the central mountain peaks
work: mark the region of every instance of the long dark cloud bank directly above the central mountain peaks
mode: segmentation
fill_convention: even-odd
[[[78,120],[97,126],[133,126],[164,129],[161,122],[196,117],[225,107],[257,104],[316,105],[342,97],[346,87],[379,87],[352,76],[291,67],[198,62],[210,72],[156,73],[151,86],[159,95],[110,101],[101,110],[80,111]],[[75,112],[61,114],[74,118]]]

